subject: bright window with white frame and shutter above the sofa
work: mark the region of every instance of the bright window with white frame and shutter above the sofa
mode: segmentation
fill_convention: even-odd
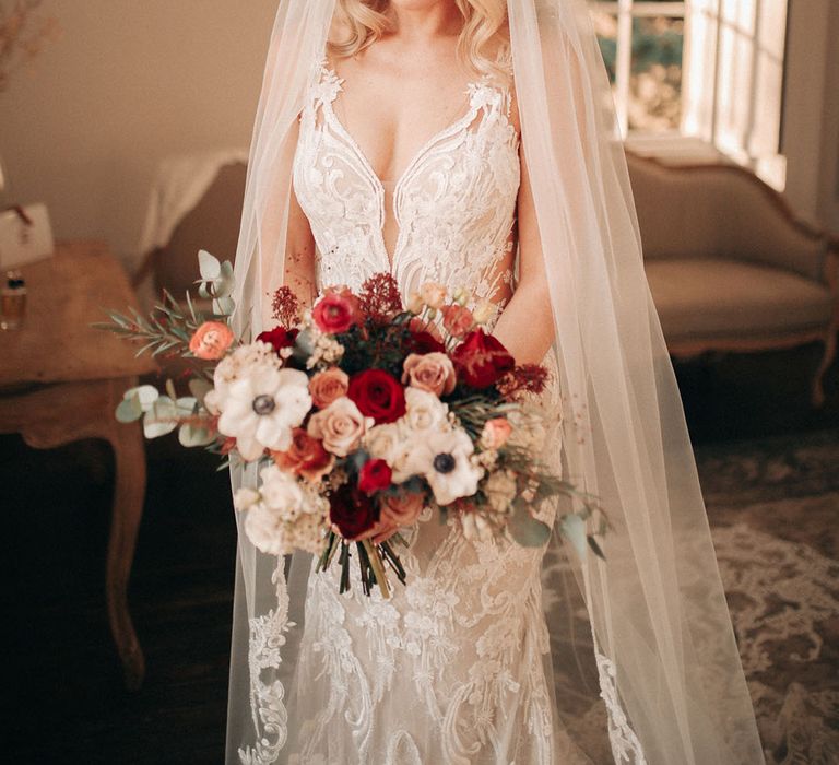
[[[591,0],[624,136],[654,154],[728,156],[782,189],[788,4]]]

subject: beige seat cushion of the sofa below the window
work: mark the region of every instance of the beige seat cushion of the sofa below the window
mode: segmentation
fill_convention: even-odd
[[[717,258],[657,259],[645,267],[669,342],[794,334],[830,319],[828,289],[790,271]]]

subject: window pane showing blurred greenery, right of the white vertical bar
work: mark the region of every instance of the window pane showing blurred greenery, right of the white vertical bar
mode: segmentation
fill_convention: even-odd
[[[678,129],[684,39],[683,19],[647,16],[633,20],[630,130],[664,132]]]

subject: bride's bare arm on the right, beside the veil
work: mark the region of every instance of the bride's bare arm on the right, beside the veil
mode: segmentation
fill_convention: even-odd
[[[519,279],[493,334],[518,364],[541,364],[554,341],[554,319],[530,175],[521,150],[520,157],[521,186],[517,208]]]

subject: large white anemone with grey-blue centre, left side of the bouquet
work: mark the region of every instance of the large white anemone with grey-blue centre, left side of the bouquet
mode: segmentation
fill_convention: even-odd
[[[309,378],[298,369],[258,363],[241,370],[226,385],[213,404],[221,412],[218,432],[236,439],[246,461],[259,459],[265,449],[283,451],[292,444],[309,409]]]

